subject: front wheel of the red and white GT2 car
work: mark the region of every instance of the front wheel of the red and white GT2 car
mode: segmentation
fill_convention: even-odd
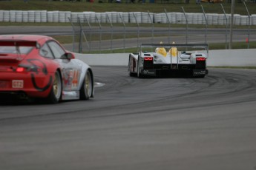
[[[93,78],[91,77],[91,72],[88,70],[85,73],[85,78],[82,82],[80,89],[80,100],[88,100],[93,93]]]

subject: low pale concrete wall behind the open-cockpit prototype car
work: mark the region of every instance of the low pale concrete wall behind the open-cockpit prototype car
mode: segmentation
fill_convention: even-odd
[[[129,53],[78,54],[76,58],[90,66],[128,66]],[[256,67],[256,49],[209,50],[207,65],[212,67]]]

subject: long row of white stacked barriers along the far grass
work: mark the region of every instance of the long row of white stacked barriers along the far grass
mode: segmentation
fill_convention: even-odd
[[[108,18],[106,17],[108,16]],[[203,13],[186,13],[188,18],[188,24],[206,24],[206,18]],[[223,14],[206,13],[208,24],[223,25],[229,23],[230,14],[226,17]],[[70,11],[46,11],[46,10],[0,10],[0,21],[4,22],[69,22],[68,17],[73,21],[77,21],[77,17],[82,22],[86,22],[85,18],[91,22],[105,23],[111,21],[111,23],[119,23],[124,21],[125,23],[162,23],[168,24],[186,24],[186,18],[184,13],[144,13],[144,12],[81,12],[71,13]],[[256,25],[256,15],[252,14],[251,24]],[[240,16],[234,14],[234,24],[236,25],[248,25],[249,17]]]

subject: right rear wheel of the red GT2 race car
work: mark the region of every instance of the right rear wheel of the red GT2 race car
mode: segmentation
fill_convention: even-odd
[[[47,96],[47,103],[59,103],[62,98],[62,78],[59,71],[56,71],[50,93]]]

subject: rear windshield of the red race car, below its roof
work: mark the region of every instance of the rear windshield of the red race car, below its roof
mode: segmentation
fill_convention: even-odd
[[[28,54],[34,47],[1,46],[0,54]]]

